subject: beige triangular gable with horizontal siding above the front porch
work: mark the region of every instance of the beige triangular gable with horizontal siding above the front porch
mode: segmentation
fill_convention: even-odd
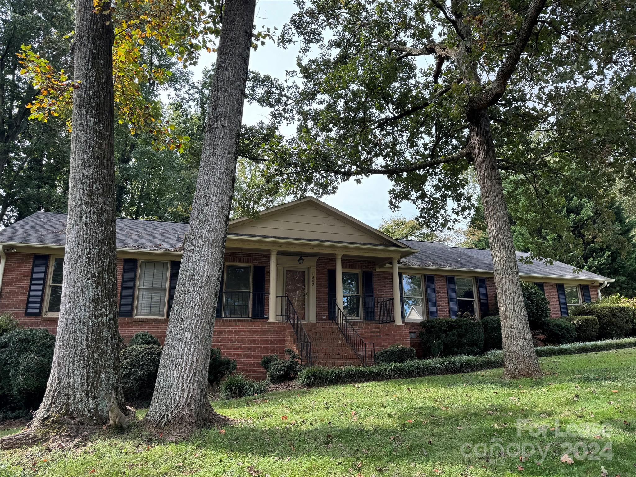
[[[272,207],[256,220],[234,219],[228,224],[228,233],[408,248],[315,197]]]

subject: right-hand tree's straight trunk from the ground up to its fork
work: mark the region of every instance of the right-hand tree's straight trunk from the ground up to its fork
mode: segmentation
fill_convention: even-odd
[[[488,113],[481,110],[469,114],[469,130],[471,154],[481,188],[481,202],[492,251],[492,270],[501,315],[504,377],[536,377],[541,375],[541,369],[523,303],[519,266],[495,156],[495,145],[490,134]]]

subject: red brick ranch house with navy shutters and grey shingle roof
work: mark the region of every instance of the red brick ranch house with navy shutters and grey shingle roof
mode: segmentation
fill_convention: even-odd
[[[184,223],[117,219],[120,333],[165,337]],[[57,329],[66,214],[36,212],[0,232],[0,311]],[[517,252],[523,257],[524,252]],[[613,280],[572,266],[519,264],[550,300],[551,315],[600,296]],[[272,271],[274,271],[272,273]],[[265,354],[295,347],[323,366],[370,364],[374,351],[412,345],[423,319],[487,315],[495,305],[489,250],[395,240],[314,197],[258,220],[230,221],[214,346],[237,371],[263,378]]]

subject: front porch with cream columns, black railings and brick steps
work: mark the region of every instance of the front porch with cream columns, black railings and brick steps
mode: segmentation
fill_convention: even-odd
[[[269,251],[228,247],[223,270],[218,321],[283,324],[291,331],[286,347],[296,349],[303,363],[373,364],[374,336],[387,326],[403,328],[390,334],[408,345],[395,256],[358,249],[330,253],[298,244]]]

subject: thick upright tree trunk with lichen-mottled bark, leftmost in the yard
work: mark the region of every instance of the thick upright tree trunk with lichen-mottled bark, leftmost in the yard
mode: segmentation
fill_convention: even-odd
[[[107,398],[113,389],[119,393],[110,6],[105,1],[93,13],[93,0],[76,1],[74,74],[80,83],[73,92],[62,301],[36,431],[102,425]]]

